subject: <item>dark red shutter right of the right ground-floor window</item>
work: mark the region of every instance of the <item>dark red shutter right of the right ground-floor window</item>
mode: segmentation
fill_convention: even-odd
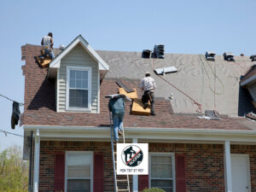
[[[176,154],[176,191],[186,192],[185,155]]]

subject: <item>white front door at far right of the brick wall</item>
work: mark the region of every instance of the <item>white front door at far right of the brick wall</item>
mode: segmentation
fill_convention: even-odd
[[[231,154],[232,192],[251,192],[247,154]]]

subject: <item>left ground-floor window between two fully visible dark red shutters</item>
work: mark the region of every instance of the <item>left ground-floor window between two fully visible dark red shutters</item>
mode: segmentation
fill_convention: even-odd
[[[67,152],[66,192],[92,191],[93,162],[91,152]]]

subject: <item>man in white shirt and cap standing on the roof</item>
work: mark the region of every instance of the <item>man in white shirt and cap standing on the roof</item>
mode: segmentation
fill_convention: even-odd
[[[144,95],[142,98],[144,108],[148,107],[149,100],[151,104],[150,114],[155,115],[156,113],[154,113],[154,90],[156,86],[154,83],[154,79],[150,77],[149,72],[145,73],[145,78],[142,79],[140,87],[144,91]]]

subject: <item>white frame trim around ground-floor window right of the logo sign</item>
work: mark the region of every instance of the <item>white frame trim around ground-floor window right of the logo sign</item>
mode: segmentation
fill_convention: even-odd
[[[173,192],[176,191],[176,174],[175,174],[175,154],[174,153],[157,153],[157,152],[153,152],[153,153],[149,153],[148,154],[148,188],[151,188],[151,157],[152,156],[171,156],[172,157],[172,179],[170,178],[170,180],[172,180],[172,184],[173,184]],[[152,179],[156,179],[156,178],[152,178]],[[159,178],[157,178],[159,179]],[[166,178],[165,178],[166,179]],[[166,179],[169,180],[169,179]]]

